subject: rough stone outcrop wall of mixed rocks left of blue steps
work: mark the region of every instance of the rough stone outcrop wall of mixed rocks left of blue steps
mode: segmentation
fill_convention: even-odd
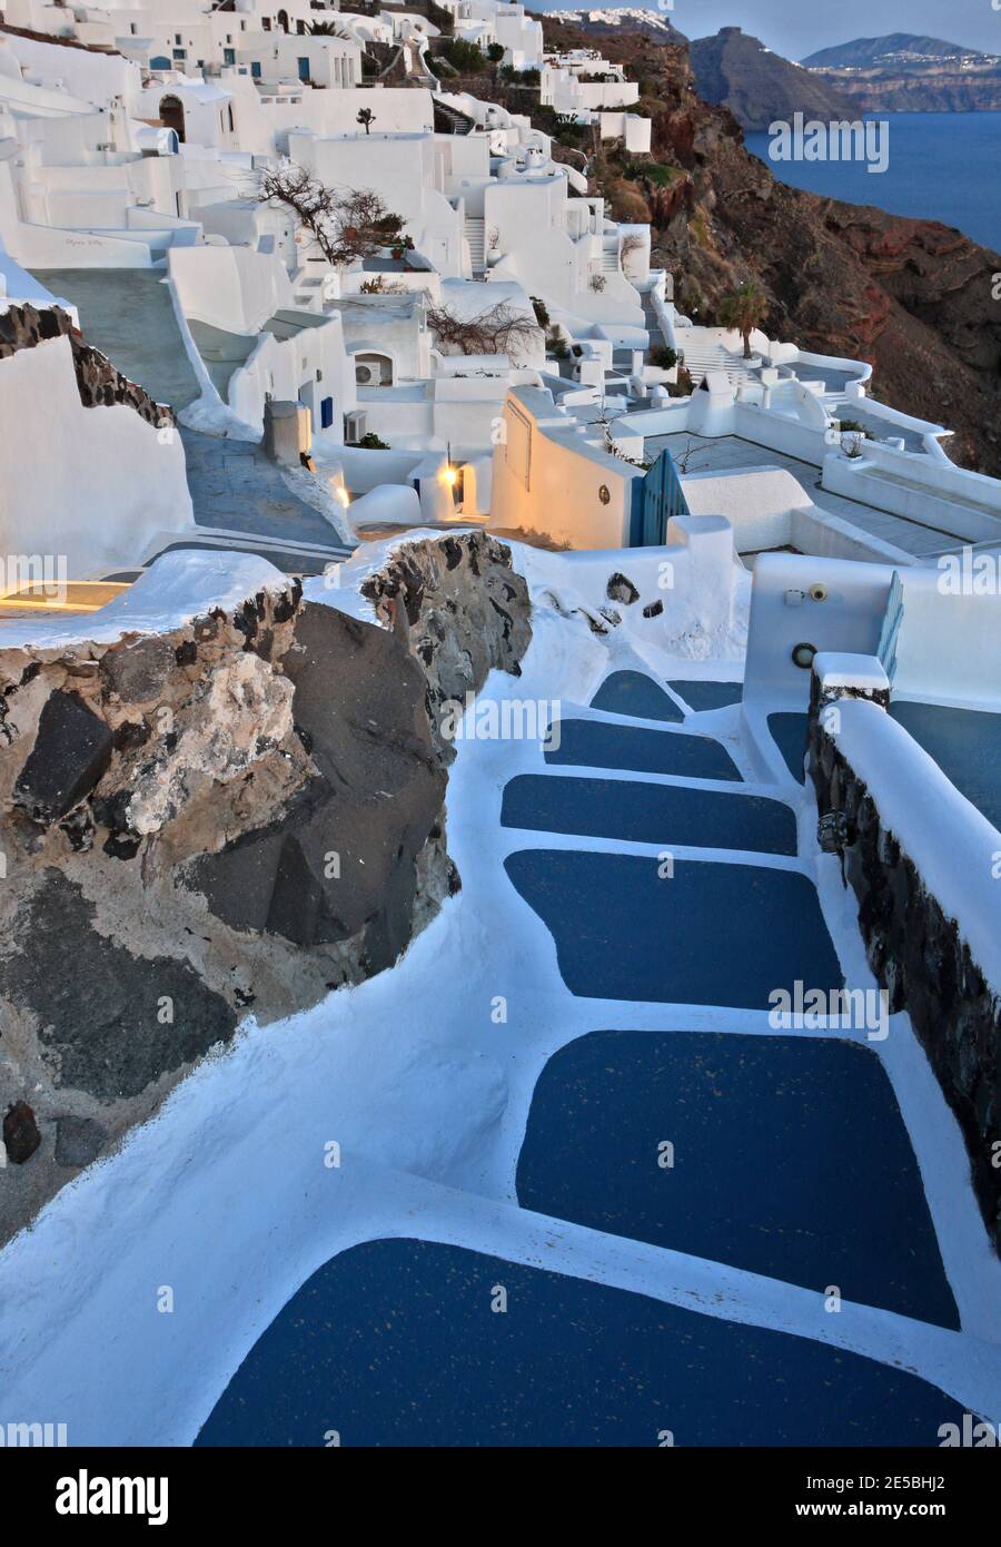
[[[511,554],[398,549],[379,627],[294,582],[167,633],[0,639],[0,1238],[243,1015],[390,967],[458,890],[441,695],[518,670]]]

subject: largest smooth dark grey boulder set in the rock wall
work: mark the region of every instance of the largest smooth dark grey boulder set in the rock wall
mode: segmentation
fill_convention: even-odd
[[[365,928],[379,961],[390,945],[395,959],[408,939],[399,899],[413,902],[446,789],[424,673],[393,634],[316,603],[285,670],[317,777],[278,823],[196,862],[192,883],[234,928],[299,945]]]

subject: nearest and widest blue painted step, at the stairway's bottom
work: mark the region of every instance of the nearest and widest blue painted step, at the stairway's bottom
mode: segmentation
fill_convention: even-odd
[[[953,1400],[857,1354],[404,1239],[314,1273],[198,1443],[936,1446],[948,1422]]]

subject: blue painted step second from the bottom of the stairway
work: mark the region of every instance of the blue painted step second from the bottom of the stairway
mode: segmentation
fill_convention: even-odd
[[[854,1043],[580,1036],[535,1086],[518,1202],[959,1327],[893,1086]]]

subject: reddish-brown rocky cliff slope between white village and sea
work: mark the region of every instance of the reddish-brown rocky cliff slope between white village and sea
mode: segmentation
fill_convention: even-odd
[[[586,34],[552,28],[552,46]],[[803,348],[869,360],[877,396],[944,422],[962,466],[1001,475],[1001,257],[934,221],[904,220],[783,187],[744,147],[724,107],[695,91],[687,50],[642,37],[602,42],[641,82],[653,161],[593,159],[617,218],[645,220],[653,261],[675,275],[682,311],[713,308],[755,275],[766,331]]]

